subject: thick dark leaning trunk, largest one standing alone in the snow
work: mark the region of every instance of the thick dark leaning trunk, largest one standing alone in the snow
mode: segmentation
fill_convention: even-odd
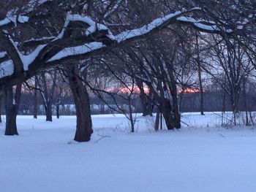
[[[71,66],[68,70],[69,86],[75,101],[77,116],[77,127],[75,131],[75,141],[88,142],[91,139],[92,123],[89,94],[83,86],[82,80],[78,76],[78,66]]]

